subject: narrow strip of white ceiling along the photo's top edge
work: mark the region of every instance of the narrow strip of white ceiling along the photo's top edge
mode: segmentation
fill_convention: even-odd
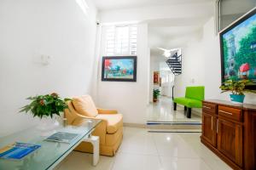
[[[100,11],[120,8],[140,8],[156,5],[175,5],[183,3],[206,3],[213,0],[94,0]]]

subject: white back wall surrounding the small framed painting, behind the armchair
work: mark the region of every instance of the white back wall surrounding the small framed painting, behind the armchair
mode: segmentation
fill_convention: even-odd
[[[102,54],[105,50],[102,29]],[[99,58],[97,105],[116,109],[124,116],[126,123],[145,123],[149,91],[148,25],[137,27],[137,82],[102,82],[102,57]]]

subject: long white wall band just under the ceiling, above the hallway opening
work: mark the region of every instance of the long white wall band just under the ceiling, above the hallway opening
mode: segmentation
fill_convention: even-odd
[[[172,18],[193,18],[211,16],[214,2],[172,4],[161,6],[143,6],[138,8],[121,8],[104,10],[100,13],[100,20],[104,22],[123,22],[132,20],[157,20]]]

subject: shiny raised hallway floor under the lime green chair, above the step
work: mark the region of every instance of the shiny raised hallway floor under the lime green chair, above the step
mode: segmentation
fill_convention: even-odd
[[[172,98],[161,97],[159,102],[148,105],[147,121],[201,122],[201,116],[197,116],[192,112],[192,116],[189,119],[184,115],[182,106],[178,106],[177,111],[173,111]]]

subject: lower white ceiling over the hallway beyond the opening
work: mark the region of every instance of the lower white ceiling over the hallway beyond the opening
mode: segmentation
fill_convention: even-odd
[[[160,48],[184,48],[191,38],[199,37],[210,16],[148,20],[148,44],[152,54],[162,54]]]

